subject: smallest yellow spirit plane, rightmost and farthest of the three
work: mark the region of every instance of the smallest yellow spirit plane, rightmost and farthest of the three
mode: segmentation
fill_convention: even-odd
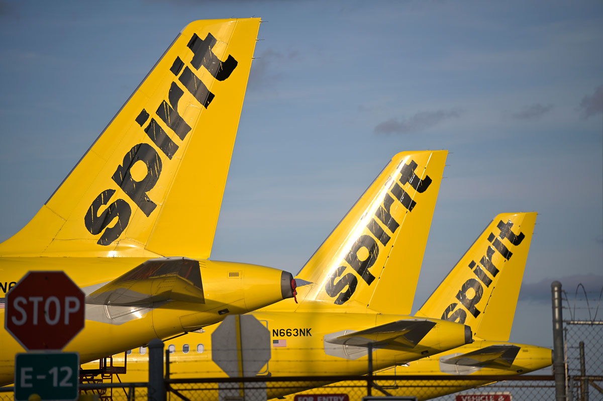
[[[432,399],[492,383],[479,376],[514,376],[551,365],[551,349],[508,343],[536,214],[497,215],[416,314],[467,324],[475,342],[377,371],[376,388],[383,394],[374,391],[373,395]],[[409,375],[440,375],[441,379],[405,379]],[[476,376],[476,380],[447,380],[456,375]],[[396,379],[379,380],[379,376]],[[342,385],[303,394],[341,392]]]

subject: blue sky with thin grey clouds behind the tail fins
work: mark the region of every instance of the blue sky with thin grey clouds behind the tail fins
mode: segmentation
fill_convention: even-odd
[[[212,259],[296,273],[393,154],[447,149],[414,309],[537,211],[511,340],[552,346],[551,281],[603,286],[601,1],[0,0],[0,240],[188,22],[233,16],[267,22]]]

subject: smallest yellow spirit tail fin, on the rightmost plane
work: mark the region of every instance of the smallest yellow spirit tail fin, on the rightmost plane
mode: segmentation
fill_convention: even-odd
[[[507,341],[536,215],[497,215],[416,315],[464,323],[480,339]]]

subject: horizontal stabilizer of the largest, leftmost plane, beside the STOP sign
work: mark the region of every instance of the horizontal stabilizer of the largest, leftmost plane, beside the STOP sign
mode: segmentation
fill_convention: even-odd
[[[150,259],[86,297],[86,303],[113,306],[145,306],[168,300],[205,303],[197,260]]]

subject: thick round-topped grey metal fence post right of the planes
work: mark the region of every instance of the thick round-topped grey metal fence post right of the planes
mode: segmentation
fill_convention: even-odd
[[[563,364],[563,313],[561,312],[561,283],[551,283],[553,304],[553,374],[555,376],[555,400],[566,401],[565,366]]]

